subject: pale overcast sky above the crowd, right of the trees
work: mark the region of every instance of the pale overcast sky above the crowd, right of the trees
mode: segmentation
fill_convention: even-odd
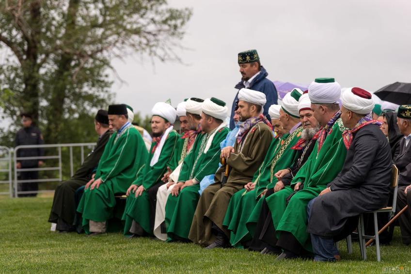
[[[157,101],[175,107],[187,97],[218,97],[231,105],[240,80],[237,53],[257,49],[270,80],[309,84],[335,77],[342,87],[375,91],[411,82],[409,0],[170,0],[193,15],[178,51],[185,63],[115,60],[116,102],[143,115]]]

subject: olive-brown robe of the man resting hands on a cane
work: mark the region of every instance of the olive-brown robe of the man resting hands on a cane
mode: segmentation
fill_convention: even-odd
[[[234,193],[251,182],[254,173],[264,160],[272,140],[272,131],[268,125],[259,122],[247,133],[242,143],[236,142],[235,152],[227,159],[231,167],[227,182],[221,185],[222,166],[215,175],[215,182],[203,191],[194,214],[189,239],[196,244],[209,245],[215,240],[212,234],[212,223],[218,226],[227,237],[229,231],[222,222],[230,198]]]

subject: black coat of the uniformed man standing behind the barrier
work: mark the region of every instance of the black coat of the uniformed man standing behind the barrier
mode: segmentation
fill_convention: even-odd
[[[16,134],[16,146],[21,145],[43,145],[44,140],[41,135],[40,129],[35,126],[23,127]],[[44,156],[44,149],[42,148],[32,148],[32,149],[18,149],[16,153],[17,157],[36,157]],[[17,161],[21,163],[21,167],[30,168],[38,167],[38,161],[40,159],[33,160],[22,160]]]

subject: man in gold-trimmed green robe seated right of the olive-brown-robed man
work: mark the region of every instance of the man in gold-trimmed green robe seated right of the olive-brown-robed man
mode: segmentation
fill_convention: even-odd
[[[255,172],[253,180],[244,185],[244,189],[238,191],[230,199],[223,226],[230,232],[230,244],[236,247],[248,247],[253,238],[249,233],[246,223],[252,215],[258,200],[268,188],[273,188],[277,179],[273,176],[278,170],[290,167],[297,159],[297,151],[291,148],[300,140],[302,127],[299,116],[299,99],[302,95],[300,89],[285,94],[283,105],[280,109],[280,122],[288,131],[283,136],[281,143],[271,142],[263,163]],[[261,206],[262,203],[258,205]],[[255,209],[258,217],[259,210]]]

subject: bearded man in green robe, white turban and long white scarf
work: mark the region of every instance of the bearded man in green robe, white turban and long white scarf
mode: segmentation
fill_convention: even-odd
[[[164,184],[161,178],[167,170],[167,163],[173,158],[179,138],[173,127],[177,113],[170,103],[158,102],[151,112],[154,139],[150,155],[126,193],[128,197],[122,219],[126,221],[124,235],[131,233],[131,237],[152,235],[157,190]]]

